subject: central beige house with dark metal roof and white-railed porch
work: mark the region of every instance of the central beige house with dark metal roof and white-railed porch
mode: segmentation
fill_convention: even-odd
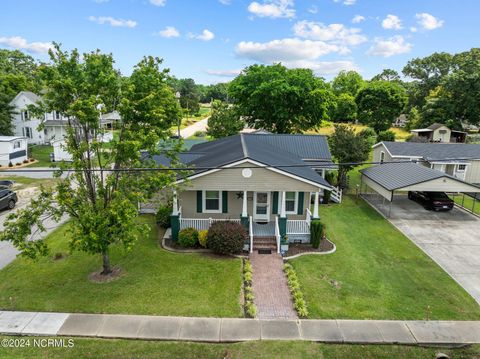
[[[169,165],[163,156],[154,159]],[[174,240],[183,228],[208,229],[215,221],[233,220],[249,232],[245,249],[258,248],[256,241],[266,237],[279,252],[282,240],[287,245],[285,236],[288,242],[310,240],[319,198],[333,190],[322,176],[335,168],[324,136],[239,134],[197,144],[179,159],[192,171],[177,181]]]

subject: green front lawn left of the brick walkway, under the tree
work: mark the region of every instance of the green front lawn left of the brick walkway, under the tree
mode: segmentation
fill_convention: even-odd
[[[18,258],[0,271],[0,310],[239,317],[241,260],[170,253],[158,245],[152,226],[130,253],[113,248],[112,264],[124,271],[116,281],[97,284],[87,277],[100,257],[68,252],[63,226],[48,239],[52,255],[38,262]]]

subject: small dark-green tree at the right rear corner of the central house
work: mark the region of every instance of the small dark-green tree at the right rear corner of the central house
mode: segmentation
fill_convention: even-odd
[[[333,156],[340,163],[337,185],[345,188],[347,173],[358,166],[354,163],[368,159],[370,153],[368,138],[355,133],[350,126],[338,124],[335,125],[335,132],[329,137],[328,142]]]

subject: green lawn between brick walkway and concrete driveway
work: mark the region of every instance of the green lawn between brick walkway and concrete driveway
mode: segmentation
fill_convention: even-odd
[[[292,260],[311,318],[480,319],[480,306],[362,199],[322,206],[337,251]]]

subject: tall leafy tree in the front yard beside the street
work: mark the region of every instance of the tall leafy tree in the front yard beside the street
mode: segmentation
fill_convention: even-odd
[[[64,176],[54,190],[43,190],[31,205],[11,214],[0,239],[37,258],[48,246],[44,240],[30,241],[32,233],[45,229],[46,218],[66,214],[70,248],[101,256],[102,274],[107,275],[112,271],[111,245],[128,250],[146,231],[136,220],[138,202],[174,181],[170,171],[131,169],[157,167],[142,151],[158,153],[159,141],[168,139],[179,116],[178,104],[158,58],[144,58],[123,81],[112,56],[99,51],[81,55],[55,46],[50,58],[51,64],[41,69],[46,92],[38,111],[56,110],[68,118],[65,148],[73,157],[68,164],[72,171],[61,165],[57,175]],[[104,130],[99,118],[113,109],[122,120],[118,139],[107,145],[100,139]],[[174,151],[170,154],[174,158]]]

